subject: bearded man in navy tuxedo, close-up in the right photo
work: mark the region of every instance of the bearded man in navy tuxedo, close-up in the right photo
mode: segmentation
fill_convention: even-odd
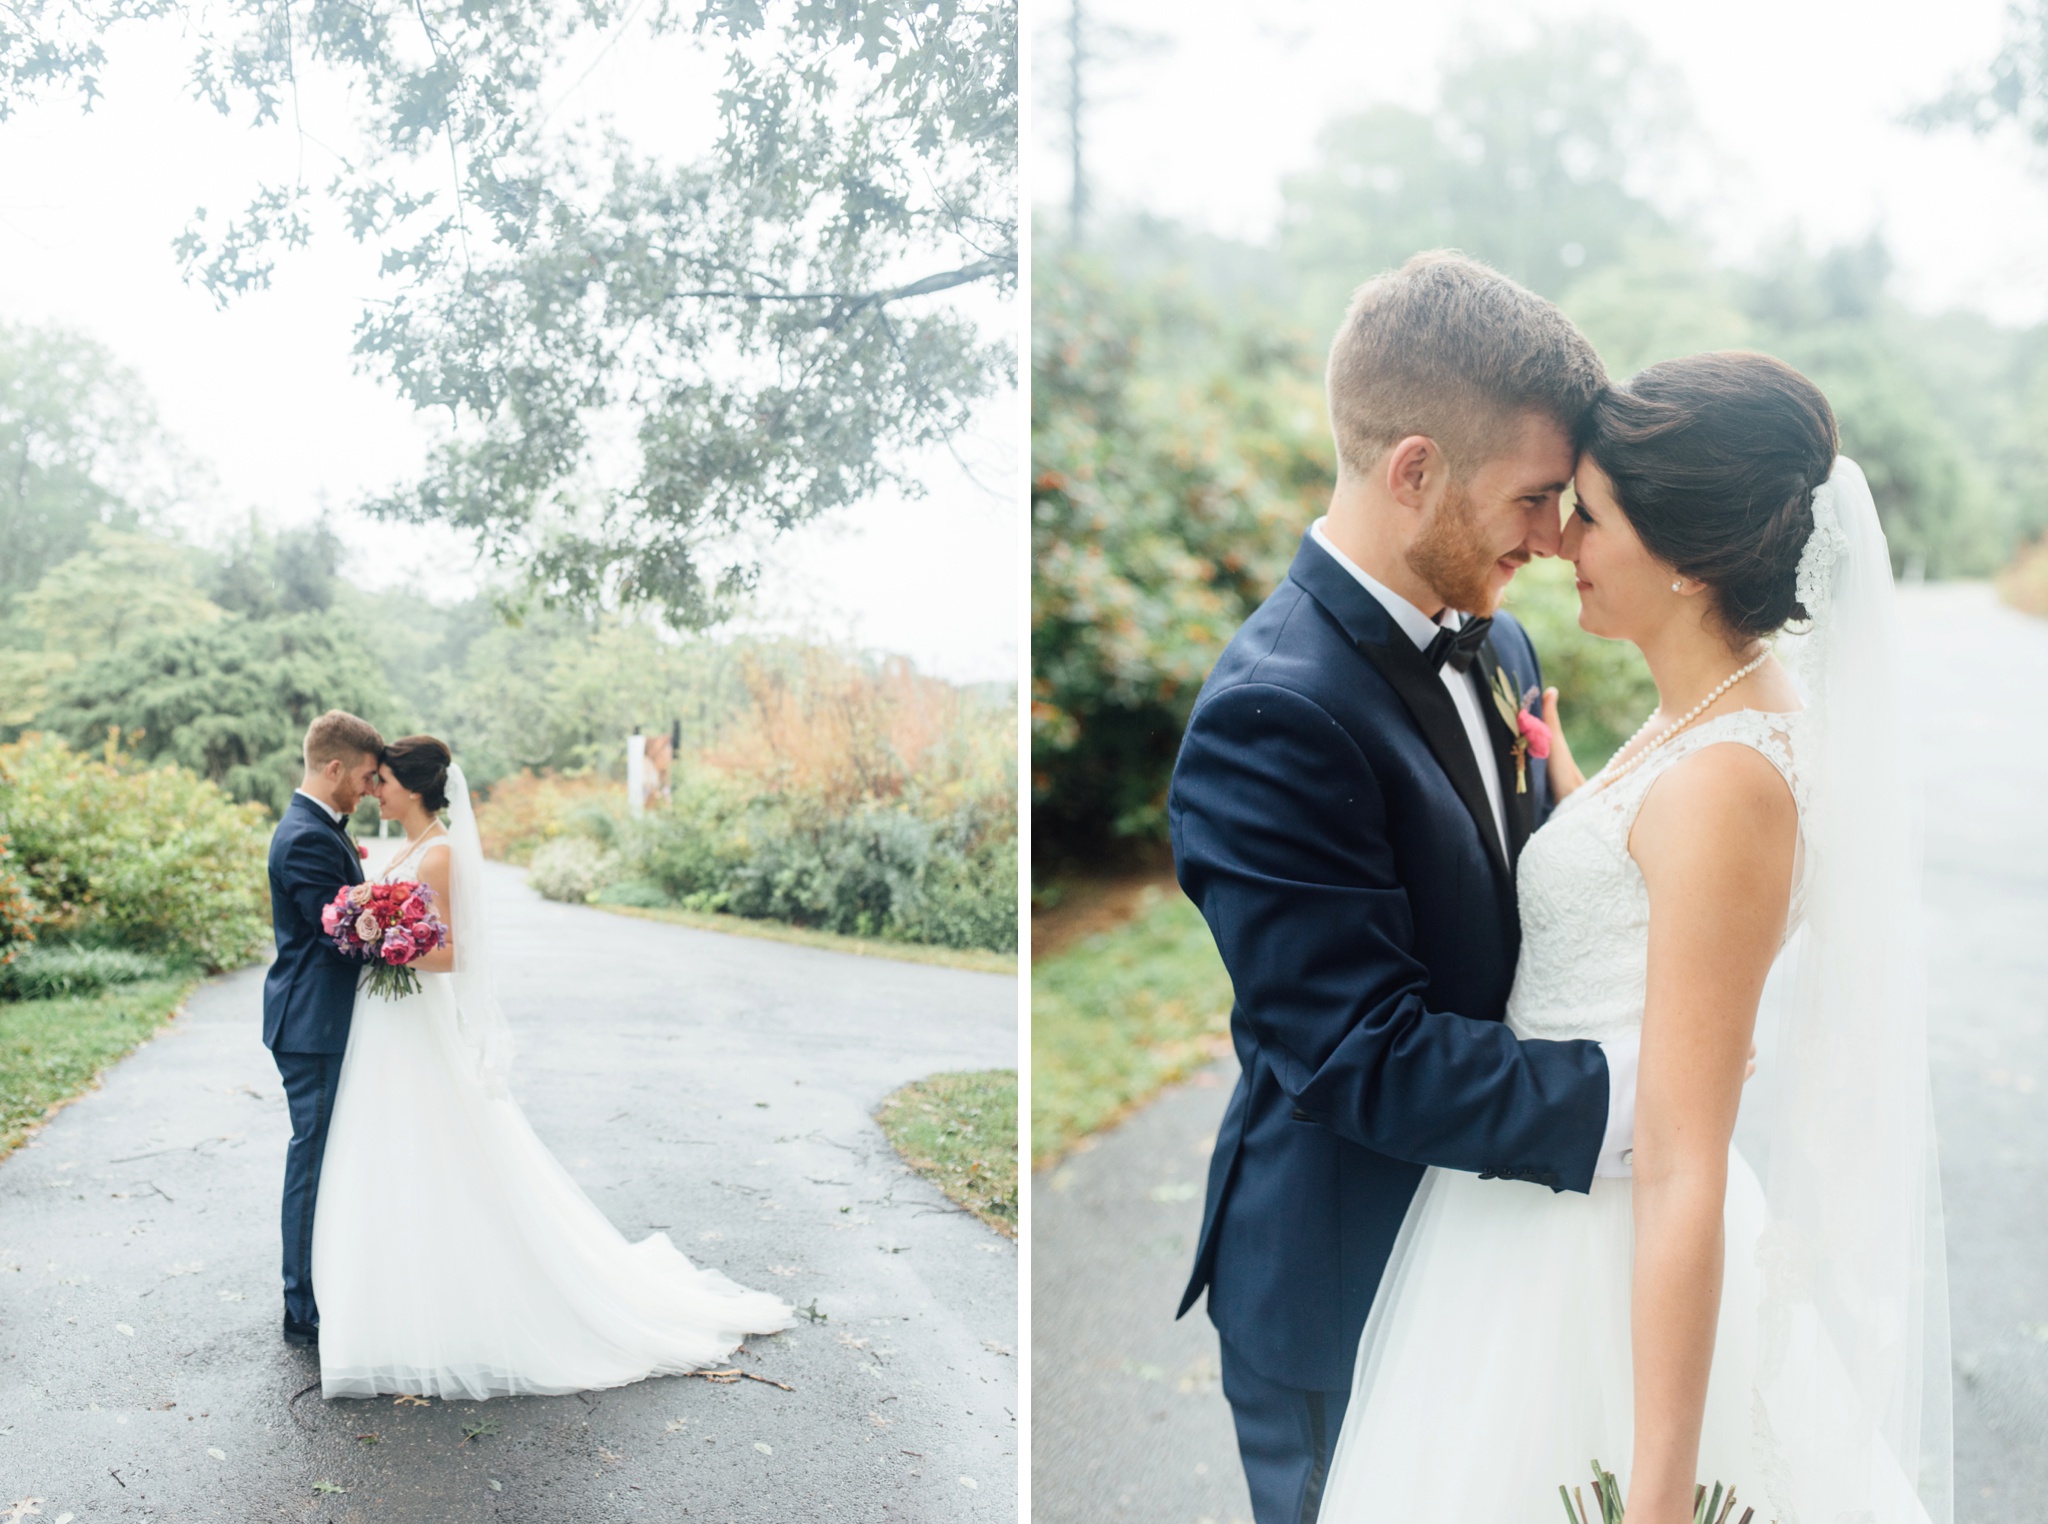
[[[1317,1516],[1425,1166],[1581,1192],[1626,1174],[1634,1053],[1501,1020],[1548,780],[1493,698],[1542,686],[1495,604],[1559,551],[1602,385],[1563,313],[1481,264],[1421,254],[1364,285],[1329,354],[1329,514],[1223,653],[1174,768],[1174,860],[1229,967],[1243,1067],[1180,1311],[1208,1290],[1257,1524]]]

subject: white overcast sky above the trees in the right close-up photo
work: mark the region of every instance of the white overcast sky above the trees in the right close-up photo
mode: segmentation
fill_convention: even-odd
[[[1800,227],[1882,229],[1915,305],[2048,318],[2048,178],[2013,143],[1925,137],[1901,111],[1997,49],[2005,0],[1090,0],[1165,47],[1104,74],[1090,135],[1102,207],[1145,207],[1260,238],[1317,129],[1368,102],[1423,107],[1440,59],[1479,29],[1620,16],[1688,80],[1718,162],[1681,199],[1731,256]],[[1040,76],[1061,68],[1067,0],[1036,6]],[[1055,98],[1036,94],[1038,205],[1067,195]]]

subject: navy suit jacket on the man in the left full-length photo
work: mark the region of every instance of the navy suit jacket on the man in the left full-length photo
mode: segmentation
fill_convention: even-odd
[[[356,1008],[360,963],[344,959],[319,912],[344,883],[362,883],[346,826],[293,795],[270,836],[270,930],[276,963],[262,981],[262,1041],[276,1053],[342,1053]]]

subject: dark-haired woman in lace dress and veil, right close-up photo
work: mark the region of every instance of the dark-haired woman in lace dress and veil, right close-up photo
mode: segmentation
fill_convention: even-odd
[[[1581,1483],[1597,1522],[1597,1458],[1628,1524],[1694,1520],[1698,1483],[1735,1487],[1731,1524],[1946,1524],[1917,842],[1870,488],[1827,399],[1761,354],[1651,367],[1587,434],[1579,623],[1642,649],[1659,709],[1593,778],[1552,754],[1507,1014],[1640,1030],[1634,1176],[1581,1196],[1427,1172],[1321,1518],[1513,1524]],[[1774,653],[1788,621],[1810,623]]]

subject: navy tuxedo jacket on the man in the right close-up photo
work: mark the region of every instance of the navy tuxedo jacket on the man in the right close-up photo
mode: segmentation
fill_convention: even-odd
[[[1542,686],[1507,615],[1470,672]],[[1546,809],[1481,696],[1505,852],[1458,709],[1415,643],[1305,537],[1217,662],[1167,813],[1182,889],[1231,973],[1243,1073],[1180,1311],[1260,1374],[1339,1391],[1425,1166],[1587,1190],[1608,1123],[1595,1043],[1503,1024],[1513,858]],[[1516,1266],[1499,1266],[1501,1276]]]

